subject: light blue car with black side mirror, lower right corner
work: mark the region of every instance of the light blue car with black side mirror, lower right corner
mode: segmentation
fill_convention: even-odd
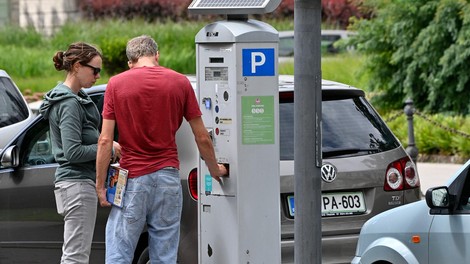
[[[470,263],[470,160],[426,200],[368,220],[353,264]]]

